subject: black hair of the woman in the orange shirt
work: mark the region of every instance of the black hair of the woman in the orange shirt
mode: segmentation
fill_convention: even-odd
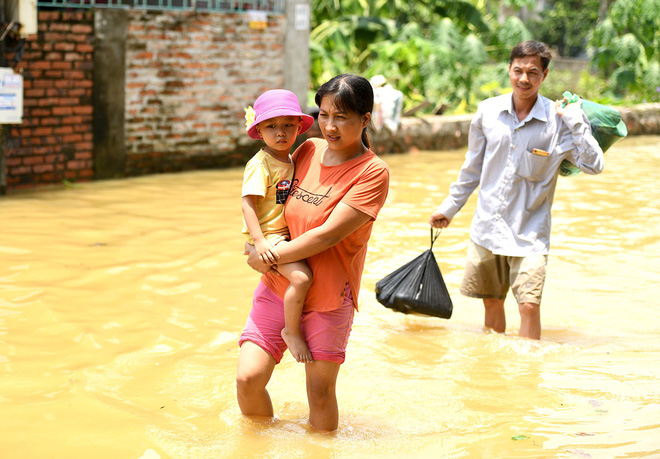
[[[314,97],[316,105],[321,107],[321,100],[325,96],[334,96],[335,106],[346,113],[353,112],[362,116],[374,109],[374,90],[371,83],[359,75],[344,73],[323,83]],[[371,148],[366,127],[362,130],[362,143]]]

